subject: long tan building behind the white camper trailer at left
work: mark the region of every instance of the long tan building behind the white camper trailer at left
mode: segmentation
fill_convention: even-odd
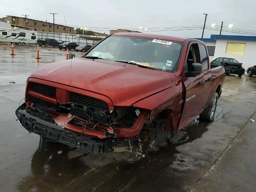
[[[16,16],[6,16],[0,20],[10,23],[12,27],[16,26],[24,30],[76,34],[76,30],[74,30],[73,27],[58,24],[54,24],[53,26],[53,23],[47,21],[39,21]]]

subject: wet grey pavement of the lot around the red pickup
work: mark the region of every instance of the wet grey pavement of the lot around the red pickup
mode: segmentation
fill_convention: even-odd
[[[27,134],[14,111],[28,75],[66,53],[40,47],[37,60],[36,46],[15,46],[14,57],[10,48],[0,44],[0,192],[255,191],[256,77],[226,76],[214,122],[190,123],[141,160],[58,143],[39,152],[39,136]]]

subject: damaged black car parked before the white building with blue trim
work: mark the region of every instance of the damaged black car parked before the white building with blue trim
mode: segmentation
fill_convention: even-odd
[[[236,59],[218,57],[211,62],[211,66],[223,66],[226,74],[238,74],[241,77],[244,74],[244,68],[242,63],[239,63]]]

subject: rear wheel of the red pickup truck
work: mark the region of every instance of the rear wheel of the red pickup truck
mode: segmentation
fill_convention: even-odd
[[[217,102],[218,102],[218,93],[215,92],[214,96],[212,98],[212,101],[210,102],[208,107],[206,109],[204,109],[204,111],[200,114],[201,120],[206,120],[209,122],[212,122],[214,120]]]

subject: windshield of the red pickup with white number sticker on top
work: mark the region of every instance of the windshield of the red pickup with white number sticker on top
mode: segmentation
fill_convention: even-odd
[[[182,43],[154,38],[110,36],[85,58],[100,58],[136,64],[155,70],[176,71]]]

